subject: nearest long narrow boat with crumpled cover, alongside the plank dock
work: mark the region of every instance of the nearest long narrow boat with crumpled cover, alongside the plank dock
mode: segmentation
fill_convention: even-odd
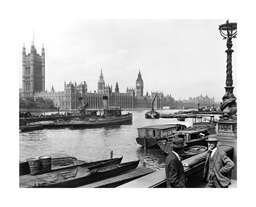
[[[87,168],[77,167],[74,170],[63,170],[42,175],[20,176],[20,187],[52,188],[52,187],[79,187],[94,181],[113,177],[119,173],[135,169],[139,161],[126,162],[110,165],[107,167],[88,170]]]

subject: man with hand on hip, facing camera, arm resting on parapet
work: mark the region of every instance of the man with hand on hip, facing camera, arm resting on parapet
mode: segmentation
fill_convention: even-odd
[[[208,182],[205,187],[227,188],[230,184],[228,172],[234,168],[235,164],[225,152],[220,151],[217,147],[219,142],[217,135],[209,135],[205,140],[208,142],[209,151],[190,163],[183,163],[183,165],[193,167],[205,161],[203,180]]]

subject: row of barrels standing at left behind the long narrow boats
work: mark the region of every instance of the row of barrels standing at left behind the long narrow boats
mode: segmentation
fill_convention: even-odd
[[[39,158],[29,158],[20,160],[20,176],[35,174],[41,170],[51,170],[51,156],[40,156]]]

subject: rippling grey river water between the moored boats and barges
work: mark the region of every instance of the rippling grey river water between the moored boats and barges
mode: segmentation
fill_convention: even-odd
[[[146,167],[159,170],[164,168],[166,154],[160,149],[144,149],[137,144],[137,128],[158,125],[162,123],[177,122],[177,119],[145,119],[148,110],[123,111],[131,112],[133,122],[131,125],[108,126],[84,129],[43,129],[19,133],[19,158],[35,158],[51,153],[67,153],[85,161],[97,161],[123,156],[122,162],[140,159]],[[179,110],[163,110],[161,113],[174,113]],[[51,114],[52,112],[47,112]],[[53,112],[56,113],[56,112]],[[219,115],[215,115],[219,119]],[[186,119],[192,124],[192,119]]]

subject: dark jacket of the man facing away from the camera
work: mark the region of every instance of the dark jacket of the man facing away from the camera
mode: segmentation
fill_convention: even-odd
[[[186,188],[184,167],[173,152],[165,160],[165,174],[167,188]]]

